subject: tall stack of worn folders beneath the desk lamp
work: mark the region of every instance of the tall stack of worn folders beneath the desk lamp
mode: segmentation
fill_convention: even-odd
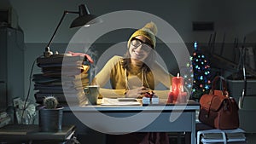
[[[45,96],[53,95],[60,103],[79,102],[84,98],[84,87],[89,85],[84,56],[51,55],[38,57],[41,73],[33,75],[36,102],[41,104]]]

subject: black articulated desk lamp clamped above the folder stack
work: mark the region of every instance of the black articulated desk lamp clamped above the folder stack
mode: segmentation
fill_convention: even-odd
[[[45,48],[44,57],[49,57],[50,55],[52,55],[52,52],[49,50],[49,46],[52,43],[52,40],[55,37],[55,34],[58,31],[59,27],[61,26],[61,22],[64,19],[66,14],[79,14],[79,17],[73,20],[70,28],[79,27],[79,26],[90,26],[92,24],[102,22],[102,20],[96,19],[96,15],[90,14],[89,9],[84,4],[79,5],[78,12],[65,10],[64,13],[62,14],[62,17],[58,26],[55,28],[55,32],[53,33],[52,37],[49,40],[49,43]]]

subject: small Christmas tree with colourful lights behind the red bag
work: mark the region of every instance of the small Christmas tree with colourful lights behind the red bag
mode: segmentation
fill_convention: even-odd
[[[197,42],[194,43],[193,55],[190,57],[193,67],[192,99],[199,100],[201,95],[207,94],[211,89],[211,74],[209,61],[197,49]]]

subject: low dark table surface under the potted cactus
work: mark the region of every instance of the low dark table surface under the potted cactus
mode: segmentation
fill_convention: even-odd
[[[9,124],[0,129],[0,142],[66,141],[74,133],[74,125],[62,125],[58,132],[40,132],[37,124]]]

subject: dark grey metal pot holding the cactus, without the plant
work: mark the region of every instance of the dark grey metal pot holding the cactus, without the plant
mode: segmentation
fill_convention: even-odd
[[[39,128],[43,132],[56,132],[61,130],[62,115],[64,107],[57,107],[55,109],[46,109],[41,107],[39,109]]]

